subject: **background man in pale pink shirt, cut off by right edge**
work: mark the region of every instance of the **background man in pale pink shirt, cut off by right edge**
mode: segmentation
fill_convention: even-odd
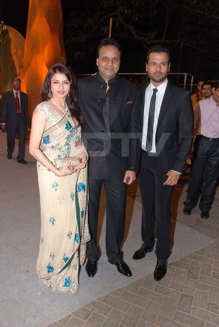
[[[196,207],[204,174],[199,202],[201,218],[204,219],[209,217],[213,190],[219,175],[219,80],[214,83],[212,93],[210,98],[199,101],[195,107],[194,133],[201,137],[183,209],[185,215],[191,215],[192,209]]]

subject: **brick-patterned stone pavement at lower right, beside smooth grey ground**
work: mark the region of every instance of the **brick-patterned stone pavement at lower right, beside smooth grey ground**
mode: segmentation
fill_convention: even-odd
[[[193,209],[191,216],[182,213],[186,188],[174,191],[179,193],[178,202],[175,194],[171,204],[178,206],[177,221],[210,236],[215,243],[169,265],[160,282],[154,281],[153,274],[148,275],[90,302],[49,327],[219,326],[219,189],[210,217],[205,220],[200,218],[198,208]],[[135,196],[140,201],[138,190]]]

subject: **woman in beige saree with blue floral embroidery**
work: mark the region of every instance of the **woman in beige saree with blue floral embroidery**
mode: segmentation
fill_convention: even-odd
[[[33,113],[29,152],[37,160],[41,205],[41,239],[37,259],[40,282],[54,291],[76,294],[78,267],[90,239],[87,221],[87,151],[81,141],[85,125],[77,106],[75,76],[61,64],[47,73],[41,103]],[[76,157],[56,169],[54,159]]]

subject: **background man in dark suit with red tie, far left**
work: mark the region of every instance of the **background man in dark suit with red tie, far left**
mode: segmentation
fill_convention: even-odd
[[[25,133],[29,124],[28,97],[20,91],[21,80],[13,78],[13,90],[3,95],[1,116],[1,128],[7,129],[8,159],[12,158],[14,151],[15,136],[18,132],[18,163],[26,164],[25,156]]]

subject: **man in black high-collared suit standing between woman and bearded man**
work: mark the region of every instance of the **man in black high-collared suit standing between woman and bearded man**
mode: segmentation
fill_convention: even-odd
[[[102,184],[107,198],[106,252],[108,261],[125,276],[132,273],[120,250],[124,237],[126,188],[136,179],[141,144],[140,89],[117,75],[121,46],[106,38],[97,48],[98,73],[78,80],[79,106],[87,123],[82,135],[89,151],[89,228],[86,272],[97,271],[97,220]],[[131,133],[128,134],[128,133]]]

